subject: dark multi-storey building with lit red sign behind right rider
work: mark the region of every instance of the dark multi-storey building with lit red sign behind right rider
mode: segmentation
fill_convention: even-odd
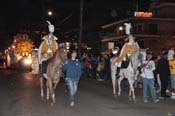
[[[175,45],[175,3],[151,4],[149,12],[136,12],[135,16],[102,26],[102,54],[109,54],[114,46],[125,42],[124,23],[132,24],[132,34],[140,47],[158,53]]]

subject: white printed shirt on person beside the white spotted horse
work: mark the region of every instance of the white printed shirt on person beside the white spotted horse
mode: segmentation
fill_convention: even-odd
[[[143,63],[146,64],[146,66],[142,68],[141,76],[147,79],[154,79],[153,71],[156,69],[154,61],[144,61]]]

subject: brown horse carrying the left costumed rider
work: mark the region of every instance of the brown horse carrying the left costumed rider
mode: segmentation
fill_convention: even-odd
[[[54,55],[48,59],[47,70],[43,76],[47,80],[47,99],[51,100],[51,105],[55,103],[55,89],[62,75],[61,67],[66,63],[67,59],[67,51],[63,46],[58,48]],[[43,79],[40,80],[40,85],[41,91],[43,91]]]

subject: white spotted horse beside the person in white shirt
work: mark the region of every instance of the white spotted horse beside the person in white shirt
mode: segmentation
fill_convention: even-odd
[[[136,101],[135,99],[135,89],[134,82],[137,80],[139,75],[138,66],[142,64],[142,61],[145,59],[145,51],[138,50],[129,58],[129,65],[127,68],[121,68],[118,78],[118,96],[121,95],[121,81],[126,78],[129,82],[129,100]]]

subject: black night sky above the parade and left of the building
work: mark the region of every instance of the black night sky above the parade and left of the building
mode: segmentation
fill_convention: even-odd
[[[146,11],[149,4],[149,0],[139,0],[139,10]],[[1,0],[0,48],[16,33],[47,31],[46,20],[56,26],[55,35],[60,39],[77,41],[79,7],[80,0]],[[133,16],[135,8],[136,0],[84,0],[83,42],[92,44],[91,40],[99,39],[100,26]],[[53,16],[47,16],[48,10]]]

